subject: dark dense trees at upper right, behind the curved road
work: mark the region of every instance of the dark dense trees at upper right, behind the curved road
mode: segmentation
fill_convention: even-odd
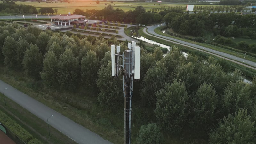
[[[203,36],[206,32],[213,32],[222,36],[247,36],[256,39],[255,18],[254,14],[237,15],[234,12],[212,14],[169,12],[164,16],[163,21],[175,32],[184,35]]]

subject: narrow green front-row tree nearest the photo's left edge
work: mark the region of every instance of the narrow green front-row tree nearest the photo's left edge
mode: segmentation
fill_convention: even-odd
[[[9,68],[15,68],[17,64],[14,57],[14,55],[16,55],[15,43],[16,41],[12,37],[7,36],[5,39],[4,47],[2,48],[4,64]]]

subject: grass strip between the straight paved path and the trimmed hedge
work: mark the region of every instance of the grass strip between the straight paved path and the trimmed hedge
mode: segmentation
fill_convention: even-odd
[[[16,121],[21,127],[26,129],[34,138],[47,144],[75,144],[73,140],[66,135],[50,126],[51,137],[48,132],[48,125],[37,116],[30,113],[19,104],[5,97],[6,106],[4,104],[4,95],[0,93],[0,110],[8,115],[12,120]]]

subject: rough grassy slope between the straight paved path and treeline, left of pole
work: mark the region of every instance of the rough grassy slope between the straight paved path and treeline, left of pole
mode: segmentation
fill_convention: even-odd
[[[64,116],[67,116],[76,123],[83,125],[92,132],[99,134],[101,137],[113,143],[123,143],[123,109],[118,109],[113,113],[108,111],[108,109],[100,107],[97,103],[97,94],[88,90],[81,90],[83,93],[71,93],[44,89],[40,81],[34,81],[31,78],[24,77],[22,72],[12,71],[3,65],[0,67],[0,79]],[[16,114],[18,112],[13,110],[12,113]],[[23,115],[26,116],[26,114],[22,114],[21,117]],[[20,118],[20,116],[17,117]],[[30,119],[30,115],[26,117],[28,118],[21,121],[29,125],[36,121]],[[48,134],[44,124],[45,122],[42,123],[42,127],[37,127],[36,124],[31,125],[31,127],[37,127],[36,129],[38,130],[36,131],[44,137],[44,132],[46,132],[46,136]],[[35,136],[35,138],[37,137]],[[42,138],[38,139],[41,140]],[[61,140],[62,138],[56,137],[56,139]],[[62,142],[56,141],[53,143],[58,144]]]

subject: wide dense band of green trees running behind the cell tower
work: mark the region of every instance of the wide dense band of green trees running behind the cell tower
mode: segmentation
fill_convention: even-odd
[[[16,23],[1,26],[1,62],[46,88],[90,89],[104,108],[122,109],[122,76],[111,76],[109,45],[120,44],[122,52],[127,45],[67,34]],[[212,57],[185,58],[176,47],[165,57],[159,48],[153,53],[142,48],[140,68],[132,112],[133,122],[145,125],[138,142],[162,143],[165,133],[210,143],[256,143],[256,78],[246,84],[239,70],[226,73]]]

